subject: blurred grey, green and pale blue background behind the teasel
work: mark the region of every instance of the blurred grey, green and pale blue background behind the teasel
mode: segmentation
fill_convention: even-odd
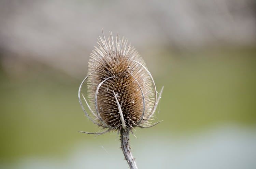
[[[1,0],[1,169],[128,168],[117,133],[77,132],[99,131],[77,90],[101,28],[165,86],[140,169],[256,168],[254,0]]]

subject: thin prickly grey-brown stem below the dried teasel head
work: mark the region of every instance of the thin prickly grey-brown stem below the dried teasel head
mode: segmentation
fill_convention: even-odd
[[[120,131],[120,140],[121,140],[121,148],[125,155],[125,159],[130,167],[130,169],[138,169],[134,158],[132,157],[130,146],[129,146],[129,130],[121,129]]]

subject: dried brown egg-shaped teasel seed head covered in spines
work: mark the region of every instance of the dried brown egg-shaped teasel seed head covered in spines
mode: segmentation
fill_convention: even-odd
[[[149,125],[157,97],[145,62],[124,37],[103,34],[97,43],[88,63],[87,94],[96,112],[92,121],[118,131]]]

